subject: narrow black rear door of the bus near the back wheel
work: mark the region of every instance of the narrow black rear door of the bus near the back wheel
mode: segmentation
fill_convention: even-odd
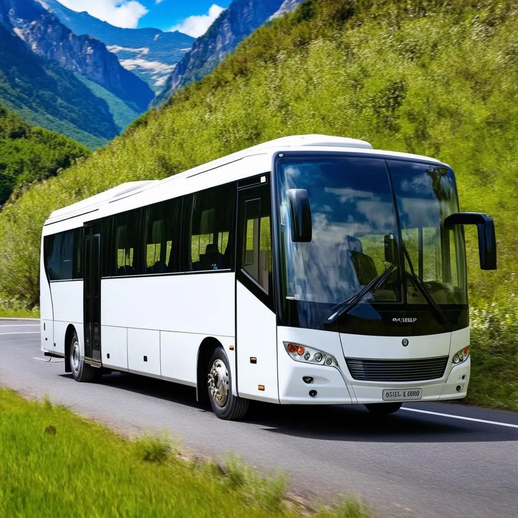
[[[100,223],[84,227],[84,357],[87,363],[101,364],[100,354]]]

